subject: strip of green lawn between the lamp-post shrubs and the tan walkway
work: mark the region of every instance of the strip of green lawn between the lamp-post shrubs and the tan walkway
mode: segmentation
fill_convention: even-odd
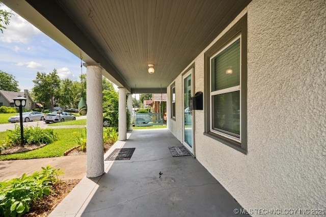
[[[1,155],[0,160],[22,160],[33,158],[51,158],[63,156],[64,152],[77,145],[73,132],[80,135],[83,128],[53,129],[58,134],[59,140],[48,144],[42,148],[14,154]],[[0,138],[5,138],[6,132],[0,132]]]

